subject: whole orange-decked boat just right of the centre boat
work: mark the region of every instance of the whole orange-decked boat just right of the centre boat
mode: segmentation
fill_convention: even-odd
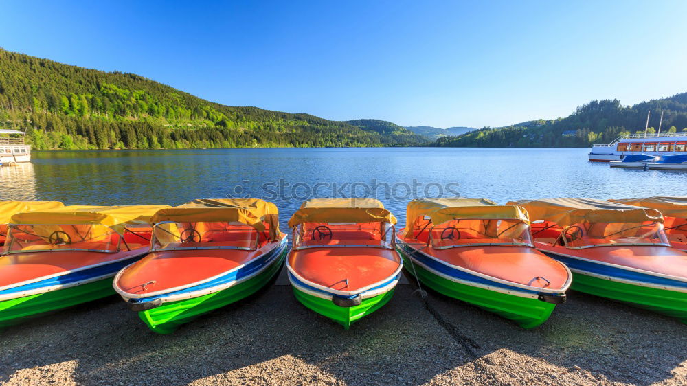
[[[486,198],[420,198],[396,246],[420,286],[534,328],[565,302],[572,273],[534,249],[529,224]]]

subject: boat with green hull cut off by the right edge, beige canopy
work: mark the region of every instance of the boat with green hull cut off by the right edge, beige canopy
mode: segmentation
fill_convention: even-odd
[[[687,323],[687,253],[671,247],[660,212],[590,198],[510,204],[538,221],[534,245],[570,268],[572,289]]]

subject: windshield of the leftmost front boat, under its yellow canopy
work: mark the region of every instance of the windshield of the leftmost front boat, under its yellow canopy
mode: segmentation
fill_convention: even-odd
[[[10,225],[4,253],[117,252],[122,236],[105,225]],[[143,243],[144,240],[139,240]],[[131,245],[129,246],[131,247]]]

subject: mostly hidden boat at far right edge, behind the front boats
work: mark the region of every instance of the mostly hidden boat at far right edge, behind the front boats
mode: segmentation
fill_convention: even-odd
[[[649,207],[663,214],[663,230],[675,249],[687,252],[687,197],[647,197],[609,200],[613,203]]]

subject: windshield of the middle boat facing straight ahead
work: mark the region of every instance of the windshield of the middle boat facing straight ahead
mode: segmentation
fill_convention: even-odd
[[[293,228],[293,249],[378,247],[394,249],[391,223],[302,223]]]

